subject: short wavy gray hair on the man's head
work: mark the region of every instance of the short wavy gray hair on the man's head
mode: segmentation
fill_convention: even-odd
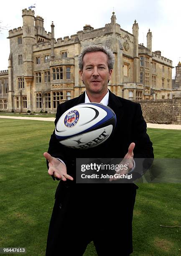
[[[113,52],[107,47],[107,46],[102,46],[102,45],[89,45],[85,46],[82,53],[79,55],[79,69],[82,71],[83,70],[83,57],[85,54],[89,52],[94,52],[94,51],[102,51],[107,55],[107,65],[108,69],[113,69],[114,63],[115,63],[115,56]]]

